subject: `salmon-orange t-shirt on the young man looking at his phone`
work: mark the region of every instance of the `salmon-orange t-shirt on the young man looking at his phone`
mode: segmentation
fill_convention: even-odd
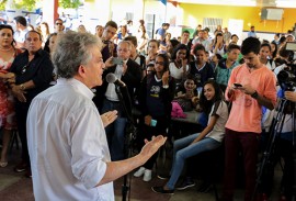
[[[260,96],[270,99],[275,105],[276,80],[273,72],[263,64],[259,69],[250,71],[246,64],[232,69],[225,96],[229,100],[228,90],[234,83],[250,85]],[[237,132],[261,133],[262,105],[250,94],[240,90],[234,91],[232,107],[226,127]]]

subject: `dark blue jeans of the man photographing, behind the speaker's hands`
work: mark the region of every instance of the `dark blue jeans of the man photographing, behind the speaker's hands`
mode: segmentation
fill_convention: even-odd
[[[111,154],[111,160],[115,161],[125,158],[125,125],[127,119],[123,118],[123,109],[119,102],[105,99],[103,102],[102,113],[112,110],[117,110],[118,118],[112,124],[105,127],[105,132]]]

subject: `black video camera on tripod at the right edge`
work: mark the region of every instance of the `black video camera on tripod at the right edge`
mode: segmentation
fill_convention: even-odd
[[[294,91],[294,87],[296,87],[296,43],[287,42],[280,51],[280,56],[286,59],[276,59],[275,63],[285,64],[287,68],[277,74],[278,85],[284,91]]]

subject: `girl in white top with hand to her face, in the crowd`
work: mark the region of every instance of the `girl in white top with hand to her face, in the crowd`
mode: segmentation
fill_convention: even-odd
[[[177,85],[180,83],[189,74],[189,59],[190,51],[186,45],[180,44],[173,49],[169,69]]]

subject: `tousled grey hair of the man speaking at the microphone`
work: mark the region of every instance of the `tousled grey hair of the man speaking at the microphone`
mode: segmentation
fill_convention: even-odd
[[[92,58],[91,47],[101,49],[96,36],[90,33],[69,31],[59,35],[52,59],[58,77],[72,78],[80,65],[86,65]]]

